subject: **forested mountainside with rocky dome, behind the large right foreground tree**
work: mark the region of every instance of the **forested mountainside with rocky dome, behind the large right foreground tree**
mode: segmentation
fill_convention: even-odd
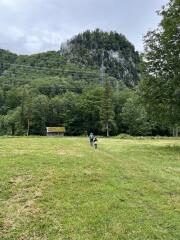
[[[156,133],[132,88],[138,64],[125,37],[99,30],[78,35],[60,52],[18,56],[0,50],[0,135],[44,135],[46,126],[60,125],[69,135],[103,134],[107,126],[110,135]]]

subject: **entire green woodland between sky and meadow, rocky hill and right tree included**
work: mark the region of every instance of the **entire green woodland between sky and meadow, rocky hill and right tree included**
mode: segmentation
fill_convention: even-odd
[[[178,135],[180,1],[159,14],[140,56],[116,32],[86,31],[60,51],[30,56],[0,49],[0,135]],[[104,62],[104,82],[100,67]]]

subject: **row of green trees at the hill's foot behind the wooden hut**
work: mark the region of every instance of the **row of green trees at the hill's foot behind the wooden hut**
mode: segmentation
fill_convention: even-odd
[[[107,78],[104,86],[74,86],[59,92],[57,83],[43,81],[34,87],[26,84],[0,90],[1,135],[44,135],[46,126],[65,126],[68,135],[166,133],[158,132],[137,92],[123,84],[114,89]]]

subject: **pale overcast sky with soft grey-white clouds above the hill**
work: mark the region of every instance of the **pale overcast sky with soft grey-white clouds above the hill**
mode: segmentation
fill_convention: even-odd
[[[160,22],[168,0],[0,0],[0,48],[18,54],[58,50],[84,30],[124,34],[143,50],[143,35]]]

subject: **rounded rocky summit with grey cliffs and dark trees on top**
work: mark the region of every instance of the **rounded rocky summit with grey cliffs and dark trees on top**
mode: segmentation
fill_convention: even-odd
[[[86,31],[62,44],[60,53],[70,63],[80,66],[100,68],[103,60],[105,71],[127,86],[135,86],[140,78],[139,54],[117,32]]]

